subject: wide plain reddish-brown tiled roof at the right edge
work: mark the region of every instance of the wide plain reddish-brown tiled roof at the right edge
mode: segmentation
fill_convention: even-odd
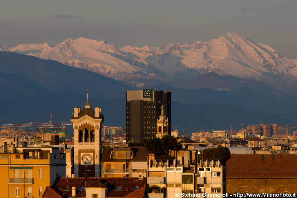
[[[231,154],[226,162],[227,178],[297,178],[296,170],[295,154]]]

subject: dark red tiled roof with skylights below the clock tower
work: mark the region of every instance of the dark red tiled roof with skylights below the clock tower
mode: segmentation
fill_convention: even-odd
[[[73,186],[73,178],[60,178],[56,184],[56,189],[60,194],[63,194],[66,197],[71,197]],[[86,197],[86,189],[77,190],[78,187],[104,187],[106,186],[108,190],[108,198],[121,198],[125,197],[132,192],[135,192],[135,187],[139,186],[139,189],[146,187],[146,178],[139,180],[139,178],[95,178],[90,177],[86,181],[85,178],[75,178],[75,189],[76,197]],[[66,187],[69,187],[68,190],[65,190]],[[116,190],[116,187],[122,187],[121,190]],[[141,191],[139,191],[140,193]],[[45,197],[47,198],[47,197]]]

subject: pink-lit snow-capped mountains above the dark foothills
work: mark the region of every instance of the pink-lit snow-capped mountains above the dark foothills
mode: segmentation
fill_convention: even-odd
[[[20,44],[12,48],[5,44],[0,49],[56,60],[126,83],[137,79],[187,80],[215,72],[259,80],[284,90],[296,83],[297,76],[297,59],[282,56],[268,45],[236,33],[191,45],[118,48],[104,40],[78,38],[57,46]]]

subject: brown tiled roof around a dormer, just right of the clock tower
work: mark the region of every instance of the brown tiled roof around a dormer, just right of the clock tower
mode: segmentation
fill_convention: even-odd
[[[126,147],[125,149],[129,149],[129,147]],[[102,151],[102,161],[147,161],[147,156],[149,155],[146,152],[146,148],[144,147],[137,147],[137,148],[131,148],[134,154],[133,159],[110,159],[110,153],[112,151],[112,148],[107,148],[106,150]]]

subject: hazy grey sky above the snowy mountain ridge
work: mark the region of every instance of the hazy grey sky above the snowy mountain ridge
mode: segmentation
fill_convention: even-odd
[[[296,0],[0,0],[0,44],[67,38],[118,47],[191,44],[236,32],[297,55]]]

